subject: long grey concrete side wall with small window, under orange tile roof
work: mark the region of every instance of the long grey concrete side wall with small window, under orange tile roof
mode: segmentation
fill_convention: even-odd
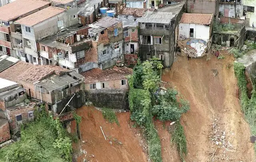
[[[74,15],[76,15],[76,18],[73,17]],[[60,20],[63,20],[63,27],[58,27],[57,22]],[[42,39],[77,23],[77,8],[70,8],[57,16],[34,25],[35,39]]]

